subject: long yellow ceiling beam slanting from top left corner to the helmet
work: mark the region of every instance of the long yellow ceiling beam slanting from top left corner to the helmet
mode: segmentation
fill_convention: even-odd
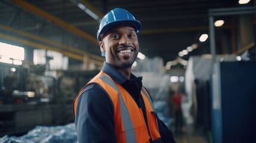
[[[47,13],[44,10],[41,10],[38,7],[35,7],[32,4],[29,4],[26,1],[23,0],[10,0],[10,2],[13,2],[14,4],[18,5],[19,7],[23,8],[24,10],[27,10],[31,13],[34,13],[36,15],[39,15],[40,17],[43,17],[55,24],[57,24],[60,27],[63,27],[66,30],[69,30],[72,33],[75,33],[78,36],[81,36],[82,38],[88,39],[89,41],[91,41],[92,43],[95,43],[96,45],[98,45],[98,41],[95,38],[95,36],[91,36],[88,33],[83,32],[82,30],[66,23],[66,21],[61,20],[60,18],[55,17],[54,15],[51,15],[50,13]]]

